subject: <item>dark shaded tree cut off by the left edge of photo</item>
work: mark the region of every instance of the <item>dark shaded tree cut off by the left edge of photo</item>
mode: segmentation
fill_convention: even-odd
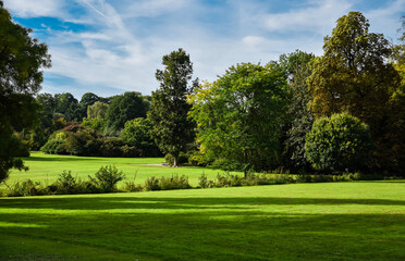
[[[32,127],[39,109],[33,95],[42,83],[42,67],[50,66],[45,44],[38,42],[25,28],[12,21],[0,1],[0,182],[10,169],[24,169],[20,153],[21,142],[14,128]]]

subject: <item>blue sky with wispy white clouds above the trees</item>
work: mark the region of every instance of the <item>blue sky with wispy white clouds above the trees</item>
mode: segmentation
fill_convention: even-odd
[[[395,42],[405,0],[3,0],[16,23],[46,42],[52,67],[40,92],[100,97],[159,88],[161,59],[183,48],[193,77],[266,64],[296,49],[321,55],[323,37],[351,11]]]

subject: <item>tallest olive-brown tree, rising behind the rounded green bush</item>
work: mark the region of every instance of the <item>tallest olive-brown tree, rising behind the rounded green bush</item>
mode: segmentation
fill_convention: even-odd
[[[375,165],[382,171],[398,161],[393,150],[384,148],[393,146],[386,138],[393,129],[386,125],[390,100],[400,88],[401,77],[388,62],[391,45],[382,34],[369,33],[369,26],[359,12],[340,17],[332,36],[324,38],[324,53],[316,60],[308,85],[316,117],[347,111],[369,125],[376,144]]]

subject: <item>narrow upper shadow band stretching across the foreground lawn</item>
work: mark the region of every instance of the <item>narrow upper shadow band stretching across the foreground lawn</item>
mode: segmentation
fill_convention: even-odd
[[[109,209],[244,209],[260,206],[405,206],[405,200],[391,199],[334,199],[334,198],[282,198],[282,197],[207,197],[207,198],[164,198],[164,197],[82,197],[73,198],[2,198],[2,207],[21,209],[59,209],[59,210],[109,210]]]

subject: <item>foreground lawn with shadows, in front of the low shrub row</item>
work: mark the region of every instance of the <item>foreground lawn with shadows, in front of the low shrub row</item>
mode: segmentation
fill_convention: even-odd
[[[0,199],[0,260],[404,260],[405,183]]]

